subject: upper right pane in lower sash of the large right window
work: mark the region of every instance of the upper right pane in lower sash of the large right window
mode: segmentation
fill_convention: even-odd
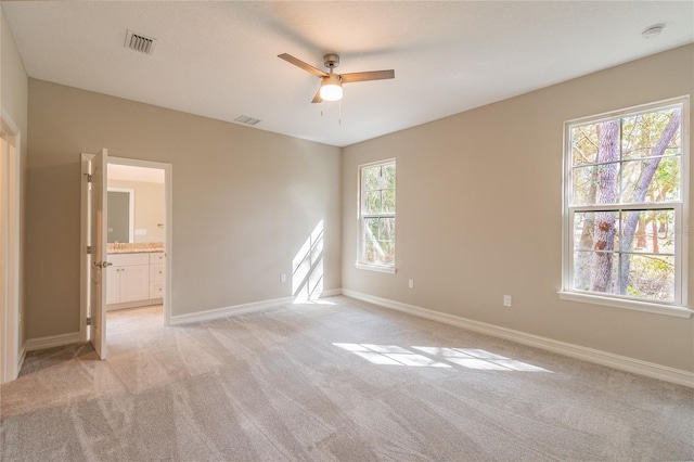
[[[620,228],[625,252],[674,253],[673,209],[624,211]]]

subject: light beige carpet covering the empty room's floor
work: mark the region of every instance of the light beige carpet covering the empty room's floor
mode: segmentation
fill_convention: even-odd
[[[35,352],[0,388],[0,459],[694,459],[691,388],[323,301],[176,328],[110,313],[110,359]]]

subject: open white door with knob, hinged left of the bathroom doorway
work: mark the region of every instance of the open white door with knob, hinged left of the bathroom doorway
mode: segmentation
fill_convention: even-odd
[[[88,283],[86,284],[87,299],[87,326],[89,341],[94,346],[97,355],[101,359],[106,359],[106,267],[111,264],[106,261],[106,166],[108,162],[107,151],[101,150],[92,156],[82,154],[82,162],[87,175],[83,181],[86,189],[86,207],[82,214],[87,214],[82,219],[86,227],[82,232],[86,235],[86,244],[89,252],[86,255],[86,272]]]

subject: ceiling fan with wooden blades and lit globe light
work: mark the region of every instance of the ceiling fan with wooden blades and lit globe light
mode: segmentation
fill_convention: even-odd
[[[281,57],[287,63],[292,63],[295,66],[300,67],[310,74],[313,74],[316,77],[321,78],[321,87],[316,92],[316,97],[313,97],[311,103],[340,100],[343,98],[343,84],[395,78],[394,69],[334,74],[333,70],[339,65],[339,56],[334,53],[329,53],[323,56],[323,64],[325,64],[325,67],[330,68],[330,73],[319,70],[310,64],[306,64],[304,61],[298,60],[287,53],[278,54],[278,57]]]

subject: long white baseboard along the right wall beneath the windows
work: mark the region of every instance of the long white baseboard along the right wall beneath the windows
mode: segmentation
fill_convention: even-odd
[[[413,305],[402,304],[386,298],[375,297],[355,291],[343,288],[343,295],[357,298],[378,305],[384,308],[407,312],[420,318],[430,319],[433,321],[442,322],[444,324],[455,325],[458,328],[467,329],[494,337],[505,338],[523,345],[529,345],[552,352],[570,356],[573,358],[582,359],[584,361],[594,362],[609,368],[619,369],[621,371],[633,372],[635,374],[646,375],[648,377],[659,378],[661,381],[694,387],[694,373],[680,369],[669,368],[653,362],[642,361],[640,359],[629,358],[626,356],[614,355],[607,351],[601,351],[594,348],[588,348],[580,345],[574,345],[566,342],[560,342],[539,335],[527,334],[512,329],[500,328],[485,322],[473,321],[472,319],[461,318],[453,315],[433,311],[426,308]]]

